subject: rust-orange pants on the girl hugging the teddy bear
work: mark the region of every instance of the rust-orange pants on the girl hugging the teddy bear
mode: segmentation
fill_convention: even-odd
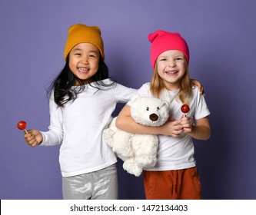
[[[144,171],[147,200],[200,200],[201,182],[198,168]]]

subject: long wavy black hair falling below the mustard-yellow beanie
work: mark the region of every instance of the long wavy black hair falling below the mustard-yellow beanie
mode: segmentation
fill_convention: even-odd
[[[80,78],[76,77],[69,68],[69,55],[66,58],[66,64],[65,67],[62,69],[62,71],[58,74],[58,76],[55,78],[54,81],[52,81],[52,84],[48,88],[48,96],[54,91],[54,100],[55,103],[58,105],[58,107],[64,107],[66,103],[69,101],[75,101],[78,94],[81,93],[81,91],[84,91],[86,88],[86,84],[84,80],[81,80]],[[94,76],[90,78],[88,81],[88,84],[91,85],[92,82],[94,82],[94,88],[97,88],[98,90],[108,90],[109,88],[114,88],[116,85],[115,81],[111,81],[110,84],[106,84],[104,79],[109,78],[108,77],[108,66],[105,64],[105,61],[100,57],[99,63],[98,63],[98,71]],[[78,88],[72,88],[72,86],[75,85],[75,82],[78,81],[79,86]]]

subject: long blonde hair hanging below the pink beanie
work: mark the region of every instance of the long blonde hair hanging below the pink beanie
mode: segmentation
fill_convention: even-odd
[[[185,61],[185,74],[181,78],[180,90],[178,91],[177,98],[183,103],[188,104],[189,99],[191,98],[191,80],[189,77],[188,71],[188,62]],[[165,82],[158,74],[158,67],[155,64],[154,74],[151,78],[150,91],[154,97],[160,98],[160,94],[165,90]]]

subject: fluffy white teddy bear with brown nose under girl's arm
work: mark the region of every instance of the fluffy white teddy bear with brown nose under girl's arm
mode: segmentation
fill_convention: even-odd
[[[131,117],[139,124],[161,126],[169,117],[168,103],[158,98],[131,98]],[[103,131],[103,138],[112,151],[124,161],[123,168],[129,174],[140,176],[143,167],[155,166],[158,137],[151,134],[131,134],[115,127],[116,117]]]

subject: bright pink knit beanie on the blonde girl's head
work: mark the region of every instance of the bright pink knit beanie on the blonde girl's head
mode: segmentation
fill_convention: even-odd
[[[164,51],[178,50],[181,51],[187,62],[189,63],[189,49],[188,44],[184,38],[178,33],[171,33],[167,31],[155,31],[148,35],[148,40],[151,41],[151,66],[154,70],[155,61],[158,56]]]

